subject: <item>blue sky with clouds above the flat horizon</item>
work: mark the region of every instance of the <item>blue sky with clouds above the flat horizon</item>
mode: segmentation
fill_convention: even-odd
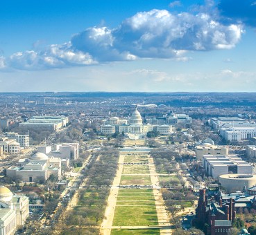
[[[256,92],[256,1],[8,0],[0,92]]]

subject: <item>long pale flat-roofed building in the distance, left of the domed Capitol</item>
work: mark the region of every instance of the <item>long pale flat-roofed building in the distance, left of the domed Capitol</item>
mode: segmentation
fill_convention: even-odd
[[[64,126],[67,126],[69,118],[65,116],[34,116],[27,122],[19,123],[26,129],[47,128],[51,131],[56,131]]]

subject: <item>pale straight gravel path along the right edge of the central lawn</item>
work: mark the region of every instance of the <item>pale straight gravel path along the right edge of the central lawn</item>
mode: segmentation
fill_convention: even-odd
[[[157,174],[155,172],[155,164],[153,164],[153,158],[148,156],[149,171],[151,175],[151,182],[153,187],[159,186]],[[160,227],[160,234],[172,234],[171,223],[169,223],[170,216],[165,209],[164,200],[162,198],[161,191],[159,189],[153,189],[155,197],[155,207],[157,211],[158,225]]]

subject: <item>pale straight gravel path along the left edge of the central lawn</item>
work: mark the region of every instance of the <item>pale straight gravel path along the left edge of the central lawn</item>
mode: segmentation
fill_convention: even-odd
[[[101,234],[104,235],[110,235],[111,233],[111,228],[112,228],[112,223],[114,220],[114,208],[116,207],[117,204],[117,194],[121,181],[121,174],[123,171],[123,161],[124,161],[124,156],[120,154],[119,157],[119,167],[117,169],[117,174],[116,177],[114,178],[112,187],[110,189],[110,196],[108,196],[108,206],[105,209],[105,219],[101,223]]]

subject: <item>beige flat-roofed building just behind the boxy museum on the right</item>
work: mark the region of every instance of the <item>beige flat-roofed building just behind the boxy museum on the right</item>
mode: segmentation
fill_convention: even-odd
[[[204,155],[228,155],[228,147],[207,143],[196,146],[196,159],[203,160]]]

